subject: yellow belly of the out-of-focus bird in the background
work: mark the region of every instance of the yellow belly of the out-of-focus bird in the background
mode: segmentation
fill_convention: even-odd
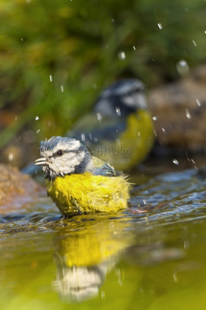
[[[98,145],[103,146],[102,149],[104,146],[107,147],[107,153],[102,152],[102,155],[101,152],[95,152],[95,149],[101,150],[101,146],[91,145],[91,147],[95,156],[99,157],[102,163],[107,162],[116,170],[128,171],[131,167],[144,161],[152,149],[154,139],[150,113],[145,110],[138,110],[136,113],[127,116],[126,129],[119,133],[117,139],[99,142]]]

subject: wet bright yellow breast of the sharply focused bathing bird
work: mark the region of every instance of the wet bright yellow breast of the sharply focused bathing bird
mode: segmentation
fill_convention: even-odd
[[[125,176],[68,174],[46,181],[47,194],[63,215],[127,208],[131,184]]]

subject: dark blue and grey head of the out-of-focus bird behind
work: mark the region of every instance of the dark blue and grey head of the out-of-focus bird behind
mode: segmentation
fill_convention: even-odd
[[[147,108],[144,83],[137,79],[123,79],[101,92],[94,112],[109,117],[127,116],[138,109]]]

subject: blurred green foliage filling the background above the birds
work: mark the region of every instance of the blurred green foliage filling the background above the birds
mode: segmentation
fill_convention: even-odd
[[[117,78],[152,87],[177,79],[180,59],[203,63],[205,8],[203,0],[2,0],[0,107],[18,117],[0,146],[28,123],[39,139],[63,135]]]

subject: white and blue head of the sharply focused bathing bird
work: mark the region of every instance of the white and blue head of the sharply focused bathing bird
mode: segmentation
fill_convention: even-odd
[[[92,158],[87,148],[76,139],[52,137],[40,142],[41,157],[35,165],[42,166],[48,179],[69,173],[83,173],[91,170]]]

